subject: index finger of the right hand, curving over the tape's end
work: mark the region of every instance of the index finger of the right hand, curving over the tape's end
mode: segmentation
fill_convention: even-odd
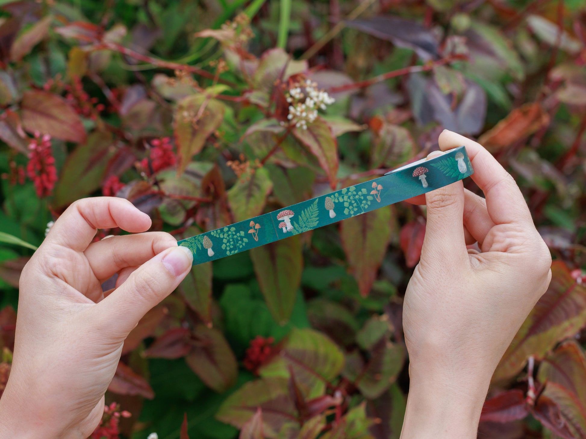
[[[486,208],[495,224],[530,222],[533,219],[519,186],[500,163],[482,145],[445,129],[440,134],[442,151],[464,145],[472,163],[472,180],[486,198]]]

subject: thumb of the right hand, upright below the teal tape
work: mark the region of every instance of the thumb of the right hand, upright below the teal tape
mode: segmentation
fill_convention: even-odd
[[[431,155],[430,155],[431,156]],[[431,158],[431,157],[428,157]],[[421,258],[453,259],[466,254],[464,184],[449,184],[425,194],[427,224]]]

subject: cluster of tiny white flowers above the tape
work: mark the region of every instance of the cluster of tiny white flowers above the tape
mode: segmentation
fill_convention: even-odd
[[[287,102],[290,104],[287,119],[297,128],[307,129],[307,124],[318,117],[318,109],[325,110],[326,105],[335,102],[328,92],[318,90],[317,87],[317,83],[305,80],[287,93]]]

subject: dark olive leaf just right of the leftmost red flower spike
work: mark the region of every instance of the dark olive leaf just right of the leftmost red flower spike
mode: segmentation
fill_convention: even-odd
[[[67,157],[55,187],[55,207],[72,203],[100,187],[108,160],[115,153],[116,148],[110,132],[91,133],[87,142],[79,145]]]

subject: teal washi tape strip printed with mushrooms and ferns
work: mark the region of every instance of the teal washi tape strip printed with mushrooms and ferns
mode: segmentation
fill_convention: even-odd
[[[193,252],[193,265],[197,265],[407,200],[473,172],[466,148],[459,146],[376,179],[182,239],[179,245]]]

